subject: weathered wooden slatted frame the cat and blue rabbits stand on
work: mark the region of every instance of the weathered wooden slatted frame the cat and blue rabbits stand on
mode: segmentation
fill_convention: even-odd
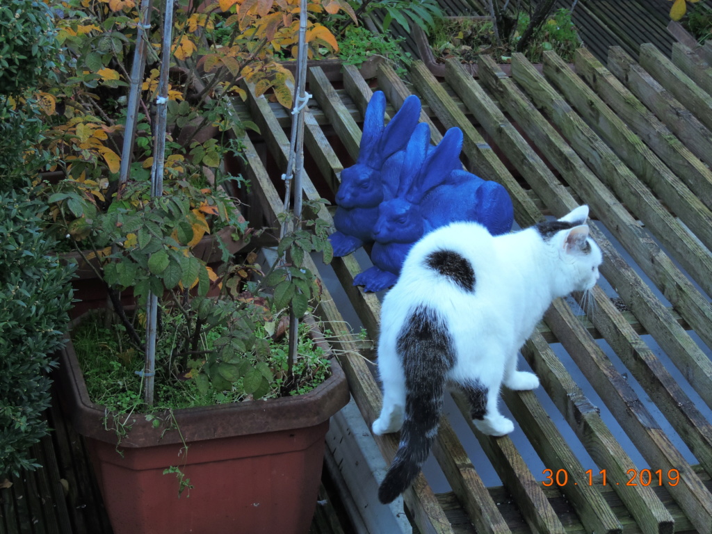
[[[692,53],[679,53],[681,68],[682,57],[697,61]],[[340,170],[356,159],[358,124],[372,86],[386,93],[391,115],[414,93],[422,99],[422,120],[431,125],[434,142],[448,127],[463,130],[466,167],[508,189],[520,226],[533,224],[543,214],[560,215],[581,202],[589,204],[593,235],[604,251],[602,273],[617,291],[612,299],[597,288],[595,312],[586,319],[558,300],[523,350],[543,389],[600,470],[606,471],[609,483],[603,486],[598,470],[594,483],[582,483],[590,466],[580,464],[535,394],[505,392],[504,400],[520,427],[517,431],[523,431],[548,468],[565,470],[570,477],[577,473],[578,483],[547,488],[542,473],[530,471],[510,438],[492,439],[473,431],[467,439],[478,439],[503,481],[503,488],[486,488],[477,462],[468,458],[444,420],[434,455],[452,492],[436,495],[420,476],[404,495],[422,533],[712,533],[712,426],[703,415],[706,408],[689,398],[692,388],[712,407],[712,173],[706,165],[712,155],[706,148],[712,142],[708,130],[712,98],[701,89],[710,87],[706,85],[710,71],[686,68],[694,78],[689,79],[651,46],[642,47],[640,64],[621,48],[613,48],[610,58],[606,68],[583,50],[572,69],[548,53],[540,73],[515,56],[511,76],[482,58],[477,79],[459,64],[448,63],[444,82],[416,63],[412,85],[387,66],[379,69],[371,85],[350,66],[343,69],[339,88],[320,68],[311,68],[308,74],[315,101],[306,122],[305,146],[315,170],[305,179],[307,197],[333,197]],[[246,174],[254,184],[253,208],[274,221],[281,201],[261,163],[273,159],[283,167],[288,118],[262,98],[250,98],[248,110],[239,112],[258,124],[266,145],[266,153],[261,153],[244,137],[250,162]],[[329,136],[338,142],[333,137],[328,141]],[[342,147],[341,157],[336,145]],[[328,209],[320,216],[331,221]],[[379,300],[352,286],[362,266],[347,256],[336,258],[331,268],[370,337],[377,339]],[[353,397],[370,424],[380,408],[379,388],[369,365],[355,352],[328,290],[320,313],[340,336]],[[666,352],[687,384],[676,382],[646,345],[644,334]],[[604,353],[600,339],[653,399],[696,464],[690,465],[676,449]],[[664,473],[662,486],[657,481],[649,486],[625,484],[634,462],[561,364],[553,342],[567,350],[651,472]],[[468,409],[459,407],[466,415]],[[396,437],[385,436],[376,443],[390,461]],[[679,473],[675,485],[665,478],[671,469]]]

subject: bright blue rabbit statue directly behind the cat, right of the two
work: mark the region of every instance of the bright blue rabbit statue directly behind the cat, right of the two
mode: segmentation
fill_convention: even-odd
[[[461,168],[462,132],[451,128],[432,149],[427,125],[418,125],[402,162],[384,166],[383,179],[399,183],[394,198],[382,202],[373,227],[374,266],[355,286],[379,291],[392,286],[410,248],[431,230],[454,221],[476,221],[493,235],[511,230],[514,210],[506,189]]]

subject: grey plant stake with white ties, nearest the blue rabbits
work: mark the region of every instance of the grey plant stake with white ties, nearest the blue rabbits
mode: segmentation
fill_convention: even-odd
[[[292,189],[294,218],[299,219],[302,214],[302,170],[304,167],[304,110],[307,106],[310,95],[306,93],[307,79],[307,2],[300,0],[299,3],[299,52],[297,55],[297,79],[295,85],[294,108],[292,110],[292,130],[289,143],[289,161],[287,162],[287,177],[293,177]],[[289,187],[290,179],[287,180],[287,192],[285,195],[285,211],[289,209]],[[282,227],[284,234],[284,225]],[[295,362],[297,359],[297,337],[299,329],[299,318],[295,316],[294,309],[290,309],[289,314],[289,359]]]

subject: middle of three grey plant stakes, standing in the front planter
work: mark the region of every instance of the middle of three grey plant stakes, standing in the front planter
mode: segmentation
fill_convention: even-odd
[[[151,167],[151,197],[163,194],[163,169],[166,148],[166,120],[168,110],[168,69],[170,66],[173,31],[173,3],[166,0],[163,21],[163,43],[161,46],[161,74],[156,98],[156,121],[153,130],[153,165]],[[154,377],[156,374],[156,324],[158,316],[158,295],[148,294],[146,306],[146,355],[143,370],[145,378],[144,400],[153,404]]]

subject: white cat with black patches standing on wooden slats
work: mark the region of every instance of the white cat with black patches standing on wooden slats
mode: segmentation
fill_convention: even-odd
[[[383,408],[374,434],[401,429],[398,451],[378,492],[393,501],[412,483],[437,434],[448,384],[469,399],[476,427],[514,429],[497,407],[501,384],[534,389],[516,370],[520,347],[557,297],[598,280],[600,248],[589,237],[588,206],[557,221],[491,236],[454,223],[414,245],[384,298],[378,346]]]

